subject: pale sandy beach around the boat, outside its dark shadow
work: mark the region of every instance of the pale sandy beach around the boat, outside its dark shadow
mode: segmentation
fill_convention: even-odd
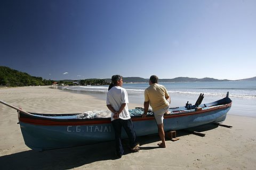
[[[0,100],[27,112],[83,113],[107,110],[106,101],[49,87],[1,88]],[[129,104],[129,108],[142,107]],[[114,142],[37,152],[28,148],[17,112],[0,104],[0,169],[255,169],[256,118],[228,113],[223,124],[197,129],[205,137],[177,131],[180,140],[158,148],[158,135],[140,137],[141,150],[115,158]]]

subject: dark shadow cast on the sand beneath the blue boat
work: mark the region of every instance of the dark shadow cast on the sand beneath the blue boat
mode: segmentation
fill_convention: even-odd
[[[203,132],[217,128],[218,125],[209,124],[193,128],[193,131]],[[188,131],[177,131],[178,137],[190,134]],[[147,143],[159,141],[157,134],[138,138],[141,150],[158,149],[156,146],[145,147]],[[182,140],[182,139],[181,139]],[[127,147],[127,140],[123,141],[125,155],[131,151]],[[100,160],[114,160],[115,142],[98,143],[95,145],[73,147],[43,152],[28,150],[0,157],[0,169],[71,169]]]

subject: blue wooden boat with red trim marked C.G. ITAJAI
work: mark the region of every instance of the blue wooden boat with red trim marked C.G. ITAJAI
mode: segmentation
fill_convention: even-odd
[[[170,108],[171,114],[164,116],[164,130],[187,129],[199,125],[218,123],[225,120],[232,101],[223,99],[199,105],[203,96],[199,96],[196,105]],[[0,100],[0,103],[18,111],[19,124],[26,145],[34,150],[49,150],[114,140],[114,129],[109,118],[81,118],[79,114],[38,114],[28,113]],[[134,110],[133,110],[134,111]],[[143,111],[135,109],[137,115],[131,115],[138,137],[157,133],[154,115],[148,113],[142,118]],[[140,114],[141,112],[141,114]],[[122,133],[126,138],[126,133]]]

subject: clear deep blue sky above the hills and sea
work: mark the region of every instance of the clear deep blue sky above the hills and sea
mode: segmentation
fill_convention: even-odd
[[[256,1],[2,0],[0,65],[43,79],[256,76]]]

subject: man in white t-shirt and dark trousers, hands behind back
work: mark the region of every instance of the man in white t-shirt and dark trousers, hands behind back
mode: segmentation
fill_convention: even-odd
[[[137,137],[133,129],[133,124],[127,104],[129,103],[127,92],[123,86],[123,77],[114,75],[111,78],[114,87],[110,88],[107,94],[107,107],[111,111],[111,123],[115,131],[116,155],[121,158],[124,154],[124,149],[121,142],[122,127],[127,133],[130,140],[132,151],[139,151]]]

